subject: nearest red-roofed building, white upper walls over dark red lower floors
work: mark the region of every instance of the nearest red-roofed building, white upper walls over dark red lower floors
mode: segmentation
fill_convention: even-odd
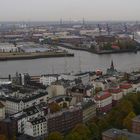
[[[108,112],[112,108],[112,95],[108,91],[101,91],[95,96],[97,110]]]

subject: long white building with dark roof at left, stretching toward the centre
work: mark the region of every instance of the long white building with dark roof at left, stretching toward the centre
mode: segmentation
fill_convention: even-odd
[[[12,95],[5,97],[6,113],[17,113],[33,105],[40,104],[41,102],[47,102],[48,98],[49,95],[46,91],[38,91],[29,94],[13,93]]]

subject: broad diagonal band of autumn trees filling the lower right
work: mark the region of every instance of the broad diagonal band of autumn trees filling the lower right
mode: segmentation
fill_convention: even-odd
[[[106,116],[92,119],[87,124],[78,124],[63,136],[53,132],[47,140],[100,140],[103,131],[109,128],[128,129],[131,131],[132,118],[140,114],[140,94],[130,93]],[[118,140],[127,138],[118,137]]]

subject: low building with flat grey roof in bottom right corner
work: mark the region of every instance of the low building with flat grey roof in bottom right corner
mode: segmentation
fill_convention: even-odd
[[[115,128],[109,129],[102,133],[102,140],[117,140],[118,138],[121,138],[122,140],[140,140],[140,135]]]

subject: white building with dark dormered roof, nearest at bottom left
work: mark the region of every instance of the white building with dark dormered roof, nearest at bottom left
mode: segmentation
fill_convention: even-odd
[[[45,117],[37,117],[25,124],[25,134],[38,137],[47,134],[47,120]]]

